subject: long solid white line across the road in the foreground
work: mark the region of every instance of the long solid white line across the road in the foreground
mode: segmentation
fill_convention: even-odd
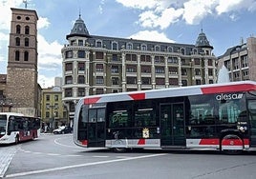
[[[40,169],[40,170],[26,171],[26,172],[8,174],[8,175],[6,175],[6,178],[25,176],[25,175],[31,175],[31,174],[38,174],[38,173],[44,173],[44,172],[50,172],[50,171],[56,171],[56,170],[63,170],[63,169],[75,169],[75,168],[96,166],[96,165],[109,164],[109,163],[115,163],[115,162],[123,162],[123,161],[129,161],[129,160],[137,160],[137,159],[143,159],[143,158],[158,157],[158,156],[163,156],[163,155],[166,155],[166,153],[143,155],[143,156],[138,156],[138,157],[107,160],[107,161],[100,161],[100,162],[93,162],[93,163],[86,163],[86,164],[78,164],[78,165],[73,165],[73,166],[66,166],[66,167],[59,167],[59,168],[52,168],[52,169]]]

